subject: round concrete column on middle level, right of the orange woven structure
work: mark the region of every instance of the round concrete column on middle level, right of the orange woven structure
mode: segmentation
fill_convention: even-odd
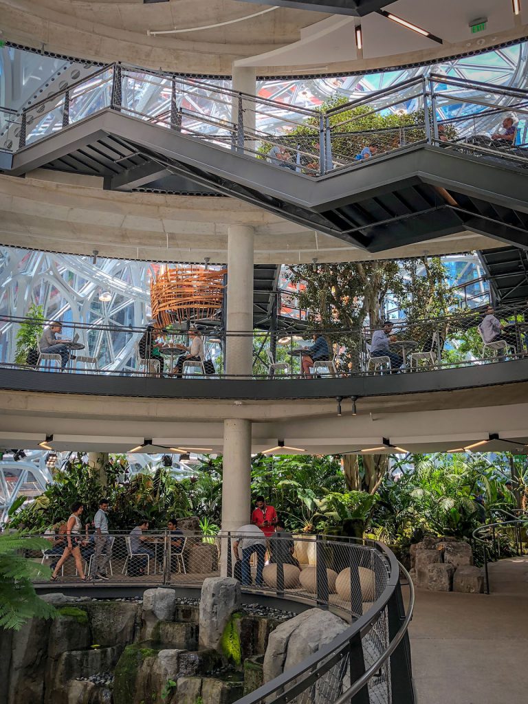
[[[251,225],[231,225],[227,234],[227,316],[225,370],[227,376],[251,377],[253,338],[230,333],[253,329],[253,239]]]

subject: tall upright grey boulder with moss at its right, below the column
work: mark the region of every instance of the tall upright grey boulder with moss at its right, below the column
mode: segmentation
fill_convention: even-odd
[[[241,608],[240,582],[232,577],[203,580],[200,599],[200,645],[220,649],[222,635],[235,612]]]

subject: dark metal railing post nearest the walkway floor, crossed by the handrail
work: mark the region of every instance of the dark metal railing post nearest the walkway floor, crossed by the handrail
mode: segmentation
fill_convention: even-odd
[[[405,618],[401,586],[398,581],[387,604],[389,642],[396,637]],[[392,704],[415,704],[408,632],[403,636],[398,647],[391,655],[391,693]]]

